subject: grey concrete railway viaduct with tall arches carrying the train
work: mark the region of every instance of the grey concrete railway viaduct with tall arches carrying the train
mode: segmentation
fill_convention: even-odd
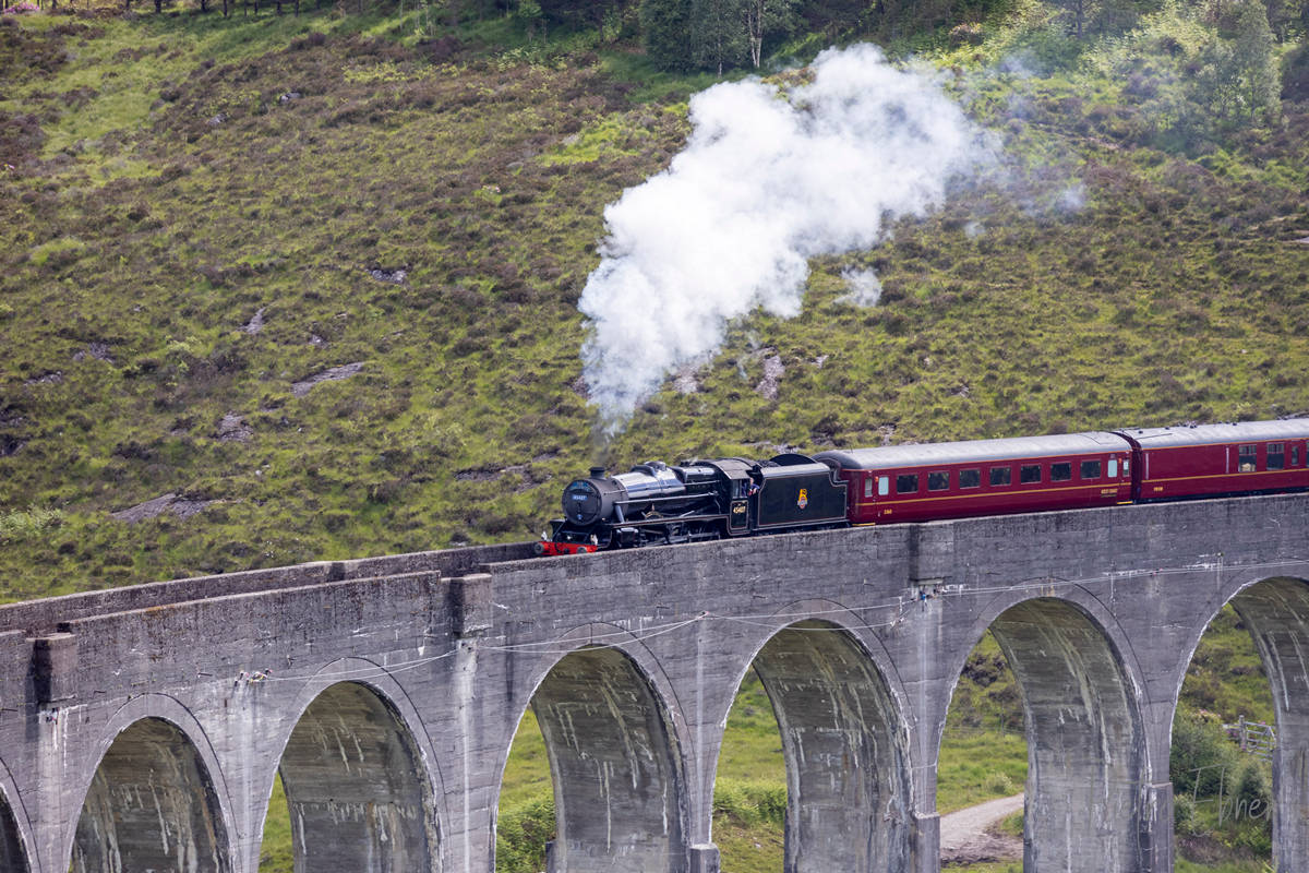
[[[1169,741],[1233,603],[1276,700],[1280,873],[1309,863],[1309,495],[529,559],[305,564],[0,609],[0,868],[255,873],[275,772],[297,872],[490,873],[534,707],[559,873],[711,873],[751,662],[788,873],[939,869],[936,758],[991,628],[1029,739],[1024,869],[1173,869]]]

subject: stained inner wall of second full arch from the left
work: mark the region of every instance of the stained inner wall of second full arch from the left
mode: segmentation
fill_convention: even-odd
[[[429,754],[378,686],[381,671],[373,664],[347,671],[332,664],[297,709],[278,764],[297,873],[441,868]],[[343,681],[331,682],[332,675]],[[271,793],[271,776],[268,783]]]

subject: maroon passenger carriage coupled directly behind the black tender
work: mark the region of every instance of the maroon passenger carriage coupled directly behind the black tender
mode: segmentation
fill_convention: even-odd
[[[1132,446],[1106,431],[822,452],[852,525],[1130,503]]]

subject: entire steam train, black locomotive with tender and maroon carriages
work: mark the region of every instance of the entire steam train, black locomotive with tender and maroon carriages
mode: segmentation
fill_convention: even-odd
[[[590,476],[538,555],[1309,491],[1309,418],[720,458]]]

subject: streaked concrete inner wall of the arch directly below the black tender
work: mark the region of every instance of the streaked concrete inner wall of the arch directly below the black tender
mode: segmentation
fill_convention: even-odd
[[[787,767],[784,869],[910,869],[908,730],[868,648],[833,620],[804,619],[778,628],[753,666],[772,702]]]

